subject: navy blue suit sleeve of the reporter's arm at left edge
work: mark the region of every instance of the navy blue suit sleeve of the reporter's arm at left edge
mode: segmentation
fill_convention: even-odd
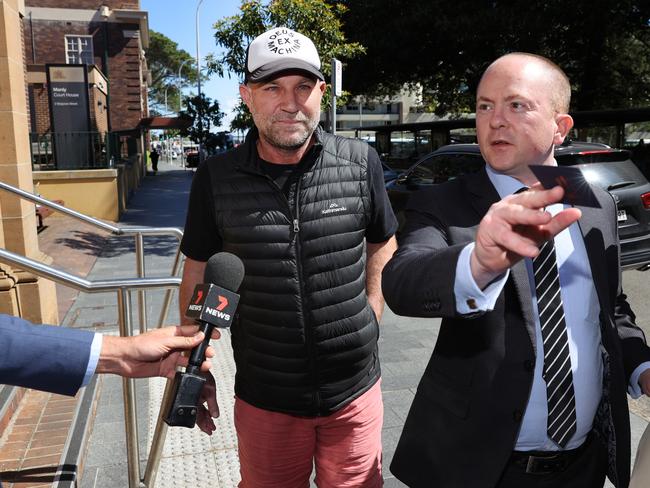
[[[86,374],[93,338],[85,330],[0,315],[0,384],[74,395]]]

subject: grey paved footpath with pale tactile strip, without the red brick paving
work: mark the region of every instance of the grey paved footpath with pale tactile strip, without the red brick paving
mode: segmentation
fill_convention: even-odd
[[[122,223],[134,225],[182,225],[185,214],[189,174],[168,171],[170,168],[160,165],[161,171],[155,178],[148,178],[138,194],[132,199],[130,209]],[[171,196],[169,196],[171,194]],[[164,216],[161,218],[161,216]],[[148,258],[147,270],[167,272],[171,267],[169,248],[161,242],[152,243],[154,255]],[[149,249],[149,246],[146,246]],[[126,249],[125,249],[126,250]],[[128,253],[120,254],[116,260],[110,253],[102,254],[93,268],[91,276],[108,277],[108,273],[120,275],[128,271]],[[152,264],[149,264],[151,262]],[[160,263],[156,267],[153,263]],[[132,264],[131,264],[132,265]],[[163,274],[164,274],[163,272]],[[99,274],[101,273],[101,275]],[[156,297],[149,294],[150,317],[156,310]],[[86,308],[83,301],[79,309]],[[176,305],[174,305],[176,307]],[[174,312],[176,308],[174,308]],[[114,315],[113,315],[114,316]],[[175,320],[177,315],[171,317]],[[385,487],[403,487],[397,481],[388,466],[399,439],[408,409],[415,394],[417,384],[429,360],[435,344],[439,320],[411,319],[399,317],[386,310],[382,320],[380,338],[380,357],[382,364],[382,391],[385,403],[383,447]],[[218,362],[214,374],[219,388],[218,398],[222,417],[218,420],[218,429],[212,438],[198,432],[197,429],[170,429],[168,441],[163,452],[163,462],[157,478],[158,487],[205,487],[233,488],[238,477],[236,456],[236,438],[232,424],[232,397],[234,364],[229,341],[219,341],[217,345]],[[125,456],[123,454],[123,427],[121,423],[121,401],[119,381],[110,378],[104,381],[104,391],[110,391],[107,400],[102,399],[98,408],[96,428],[90,441],[86,459],[86,468],[82,476],[82,488],[126,486]],[[162,382],[151,380],[148,391],[141,392],[138,401],[147,405],[149,415],[157,412],[157,404],[162,392]],[[146,390],[146,388],[145,388]],[[110,406],[110,408],[109,408]],[[638,410],[639,408],[635,408]],[[648,417],[632,414],[633,446],[636,447]],[[142,437],[151,436],[152,420],[141,419]],[[147,431],[148,428],[148,431]],[[141,452],[146,452],[150,439],[141,441]],[[117,454],[122,453],[122,454]],[[144,460],[142,455],[142,466]],[[107,461],[108,460],[108,461]],[[607,485],[606,485],[607,486]]]

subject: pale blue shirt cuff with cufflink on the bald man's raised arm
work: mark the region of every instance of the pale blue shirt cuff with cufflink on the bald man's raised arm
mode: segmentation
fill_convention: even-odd
[[[463,248],[456,263],[454,296],[456,297],[456,312],[461,315],[493,310],[510,275],[510,270],[506,271],[501,277],[490,283],[485,290],[481,290],[474,281],[470,267],[473,250],[474,243],[472,242]]]

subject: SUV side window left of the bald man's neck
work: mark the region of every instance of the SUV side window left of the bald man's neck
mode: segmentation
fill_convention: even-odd
[[[484,165],[479,154],[438,154],[413,168],[410,177],[418,184],[432,185],[474,173]]]

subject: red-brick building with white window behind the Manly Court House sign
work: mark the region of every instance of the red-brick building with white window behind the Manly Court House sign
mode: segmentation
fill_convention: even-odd
[[[31,132],[50,130],[46,64],[88,65],[97,132],[136,130],[148,116],[147,13],[138,0],[25,0]]]

